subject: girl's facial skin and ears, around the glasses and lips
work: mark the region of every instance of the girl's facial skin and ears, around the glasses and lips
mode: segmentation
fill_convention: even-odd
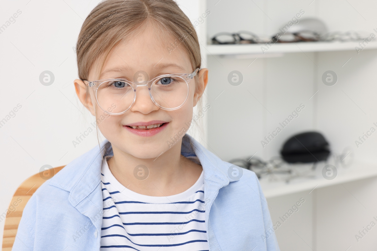
[[[138,71],[146,72],[149,79],[153,79],[164,74],[192,73],[194,70],[188,55],[183,50],[183,45],[180,46],[178,40],[169,35],[158,36],[155,27],[148,26],[138,35],[122,41],[112,49],[104,62],[99,79],[128,79],[134,82],[134,75]],[[135,103],[124,114],[106,114],[98,107],[97,102],[90,102],[86,107],[94,115],[92,105],[96,105],[98,128],[113,146],[137,158],[156,158],[170,148],[177,145],[180,147],[182,135],[189,129],[193,106],[202,95],[195,93],[195,86],[202,85],[204,90],[207,85],[208,70],[204,68],[197,75],[199,81],[195,81],[195,78],[190,79],[189,96],[184,105],[177,110],[167,111],[156,106],[149,96],[147,86],[136,87]],[[91,71],[89,81],[98,80],[94,79],[95,76],[98,74]],[[76,80],[78,81],[80,80]],[[89,89],[93,97],[94,91],[92,88]],[[158,132],[147,137],[135,134],[135,130],[142,131],[142,128],[130,128],[130,125],[145,125],[146,122],[164,124],[159,129],[150,129],[150,132]],[[172,137],[175,138],[174,141]]]

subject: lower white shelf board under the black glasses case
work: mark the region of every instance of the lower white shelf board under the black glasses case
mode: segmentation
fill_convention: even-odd
[[[319,168],[319,166],[317,167]],[[322,168],[321,168],[322,170]],[[321,171],[317,170],[317,171]],[[328,187],[336,184],[362,180],[377,176],[377,164],[354,163],[350,167],[338,168],[338,174],[334,180],[326,180],[319,173],[316,178],[300,178],[294,179],[290,183],[284,181],[268,181],[267,178],[259,180],[262,186],[264,196],[271,198],[275,196],[288,195],[296,192],[303,192]],[[318,172],[317,172],[318,173]]]

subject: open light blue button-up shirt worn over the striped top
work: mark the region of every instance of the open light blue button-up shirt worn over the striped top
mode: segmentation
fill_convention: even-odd
[[[229,170],[232,164],[188,134],[182,138],[181,154],[195,154],[203,167],[210,251],[279,251],[268,205],[254,172],[242,169],[241,178],[235,180],[231,172],[237,170]],[[108,140],[76,158],[37,189],[23,210],[12,251],[100,250],[104,155],[113,155]]]

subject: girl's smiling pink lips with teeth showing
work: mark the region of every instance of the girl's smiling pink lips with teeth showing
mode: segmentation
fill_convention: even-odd
[[[162,131],[167,126],[167,124],[169,124],[169,122],[164,122],[162,120],[152,120],[149,122],[136,122],[130,125],[124,125],[123,127],[133,134],[142,137],[150,137]]]

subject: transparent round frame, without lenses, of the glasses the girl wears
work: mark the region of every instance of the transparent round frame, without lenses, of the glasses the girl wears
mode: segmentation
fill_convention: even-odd
[[[107,114],[109,114],[109,115],[121,115],[121,114],[125,113],[126,111],[128,111],[128,110],[133,106],[133,104],[135,103],[135,100],[136,100],[136,87],[139,87],[139,86],[147,86],[147,87],[148,87],[149,82],[151,82],[151,81],[155,81],[155,80],[158,79],[158,78],[166,77],[166,76],[176,76],[176,77],[181,77],[181,78],[182,78],[182,76],[187,75],[186,78],[193,79],[193,78],[196,76],[196,74],[198,73],[198,70],[199,70],[199,67],[196,68],[192,73],[170,73],[170,74],[165,74],[165,75],[157,76],[157,77],[155,77],[155,78],[153,78],[153,79],[151,79],[151,80],[149,80],[149,81],[138,82],[138,83],[144,83],[144,82],[147,82],[147,83],[144,84],[144,85],[137,85],[135,82],[128,81],[128,80],[125,80],[125,79],[100,79],[100,80],[95,80],[95,81],[87,81],[87,80],[85,80],[85,79],[81,79],[81,80],[84,82],[84,84],[85,84],[86,86],[88,86],[88,87],[92,87],[93,90],[96,92],[96,93],[95,93],[95,99],[96,99],[97,105],[101,108],[101,110],[103,110],[105,113],[107,113]],[[182,78],[182,79],[184,79],[184,78]],[[96,87],[96,83],[95,83],[95,82],[99,82],[99,81],[102,81],[102,82],[100,82],[100,84]],[[135,87],[134,87],[133,85],[130,85],[130,86],[132,87],[133,91],[134,91],[134,95],[133,95],[133,101],[132,101],[132,104],[130,105],[129,108],[127,108],[127,110],[125,110],[125,111],[123,111],[123,112],[121,112],[121,113],[110,113],[109,111],[106,111],[106,110],[104,110],[104,109],[101,107],[100,103],[98,102],[98,98],[97,98],[97,90],[98,90],[98,87],[100,87],[100,85],[101,85],[102,83],[107,82],[107,81],[121,81],[121,82],[126,82],[127,84],[133,84],[133,85],[135,86]],[[150,89],[152,88],[152,86],[151,86],[151,87],[148,87],[149,97],[150,97],[150,99],[152,99],[152,102],[153,102],[156,106],[158,106],[159,108],[161,108],[161,109],[163,109],[163,110],[167,110],[167,111],[177,110],[177,109],[181,108],[182,105],[184,105],[184,103],[185,103],[186,100],[187,100],[187,97],[189,97],[189,82],[190,82],[190,81],[187,81],[186,79],[184,79],[184,81],[185,81],[186,84],[187,84],[187,96],[186,96],[186,98],[185,98],[185,101],[184,101],[181,105],[179,105],[178,107],[176,107],[176,108],[168,109],[168,108],[164,108],[164,107],[162,107],[161,105],[159,105],[159,104],[154,100],[154,98],[153,98],[153,96],[152,96],[152,93],[151,93],[151,91],[150,91]],[[86,82],[87,82],[87,83],[86,83]]]

